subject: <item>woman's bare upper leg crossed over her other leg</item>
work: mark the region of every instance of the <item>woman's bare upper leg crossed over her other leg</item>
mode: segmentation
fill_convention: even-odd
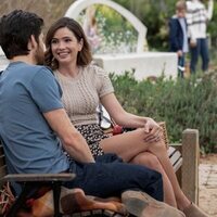
[[[100,145],[105,153],[115,152],[125,162],[130,162],[141,152],[145,151],[149,151],[155,155],[171,183],[178,208],[183,210],[183,208],[190,205],[190,201],[183,194],[178,183],[176,174],[167,154],[165,143],[163,140],[155,143],[148,143],[144,141],[145,137],[146,135],[143,129],[137,129],[104,139],[101,141]]]

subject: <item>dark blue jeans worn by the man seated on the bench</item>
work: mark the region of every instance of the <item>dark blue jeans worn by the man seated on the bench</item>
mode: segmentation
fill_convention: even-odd
[[[76,174],[76,178],[64,186],[69,189],[80,188],[86,194],[100,197],[119,196],[126,190],[140,190],[163,201],[163,180],[159,173],[118,159],[112,163],[98,159],[97,163],[72,163],[69,170]]]

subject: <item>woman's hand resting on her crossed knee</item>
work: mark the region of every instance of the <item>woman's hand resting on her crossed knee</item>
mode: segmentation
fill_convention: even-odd
[[[154,119],[148,118],[144,132],[148,135],[144,139],[145,142],[158,142],[162,139],[163,129]]]

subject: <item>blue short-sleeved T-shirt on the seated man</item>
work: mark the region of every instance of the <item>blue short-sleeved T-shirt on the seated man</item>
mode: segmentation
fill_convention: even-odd
[[[68,169],[61,142],[42,113],[62,108],[62,90],[44,66],[10,63],[0,76],[0,137],[9,173]]]

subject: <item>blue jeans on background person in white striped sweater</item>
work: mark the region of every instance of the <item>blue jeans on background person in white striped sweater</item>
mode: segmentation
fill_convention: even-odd
[[[196,72],[199,55],[201,55],[202,58],[202,71],[206,72],[208,69],[208,62],[209,62],[208,41],[206,38],[196,39],[196,47],[191,48],[191,64],[190,64],[191,73]]]

